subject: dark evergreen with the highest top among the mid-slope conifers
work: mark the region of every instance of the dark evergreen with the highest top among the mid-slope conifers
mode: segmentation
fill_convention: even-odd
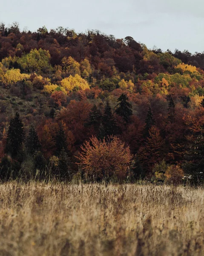
[[[125,122],[129,122],[129,118],[132,116],[132,105],[128,102],[129,98],[122,93],[117,101],[119,103],[115,106],[117,107],[115,113],[121,116]]]

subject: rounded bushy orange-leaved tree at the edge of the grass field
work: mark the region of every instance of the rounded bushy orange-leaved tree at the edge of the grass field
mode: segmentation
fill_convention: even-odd
[[[91,137],[81,146],[78,159],[89,177],[96,180],[116,177],[124,179],[132,159],[129,146],[115,136],[107,140]]]

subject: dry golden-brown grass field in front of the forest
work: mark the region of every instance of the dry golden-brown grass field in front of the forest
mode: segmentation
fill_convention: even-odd
[[[204,189],[5,183],[0,255],[204,255]]]

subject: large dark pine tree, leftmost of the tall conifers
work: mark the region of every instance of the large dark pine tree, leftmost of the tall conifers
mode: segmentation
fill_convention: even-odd
[[[15,116],[11,118],[9,123],[9,131],[6,141],[6,153],[11,154],[11,157],[15,157],[20,150],[25,137],[23,122],[20,119],[18,111]]]

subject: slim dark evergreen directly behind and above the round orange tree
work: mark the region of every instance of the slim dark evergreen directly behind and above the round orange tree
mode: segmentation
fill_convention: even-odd
[[[105,137],[115,135],[117,131],[117,125],[108,100],[106,101],[102,121]]]

